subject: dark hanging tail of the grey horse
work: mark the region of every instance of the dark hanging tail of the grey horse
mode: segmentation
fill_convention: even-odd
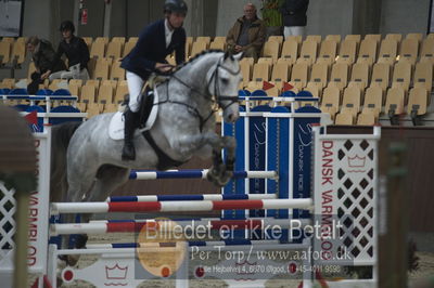
[[[50,201],[62,201],[66,195],[66,152],[73,134],[81,123],[61,123],[51,130]]]

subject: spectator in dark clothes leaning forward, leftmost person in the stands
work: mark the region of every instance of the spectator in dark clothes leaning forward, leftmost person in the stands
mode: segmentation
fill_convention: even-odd
[[[28,52],[31,54],[31,60],[35,63],[36,71],[31,74],[31,82],[27,87],[29,94],[35,94],[39,84],[47,79],[47,71],[52,69],[54,73],[65,70],[66,66],[62,60],[54,63],[55,52],[52,44],[43,39],[39,39],[37,36],[31,36],[26,41]]]

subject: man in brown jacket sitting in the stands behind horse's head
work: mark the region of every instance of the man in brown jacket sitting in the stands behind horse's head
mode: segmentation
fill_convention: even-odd
[[[266,26],[256,15],[256,6],[252,3],[244,5],[244,16],[237,19],[227,36],[228,50],[232,53],[244,52],[245,57],[260,54],[265,42]]]

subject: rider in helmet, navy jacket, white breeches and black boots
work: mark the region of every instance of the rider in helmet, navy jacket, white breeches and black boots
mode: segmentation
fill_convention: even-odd
[[[123,160],[135,160],[135,129],[138,126],[139,106],[145,101],[142,88],[153,71],[168,73],[171,66],[166,56],[176,52],[176,63],[186,60],[186,30],[182,28],[187,15],[187,4],[183,0],[166,0],[164,4],[165,18],[144,27],[131,52],[123,60],[120,67],[127,70],[129,91],[129,109],[125,116],[125,143]],[[140,96],[142,97],[140,100]]]

